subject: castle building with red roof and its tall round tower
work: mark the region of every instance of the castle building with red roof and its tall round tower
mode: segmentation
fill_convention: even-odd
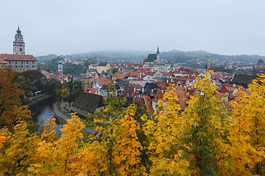
[[[19,27],[13,42],[13,54],[0,54],[0,59],[6,61],[7,67],[13,70],[26,71],[37,69],[37,59],[33,55],[25,54],[25,42]]]

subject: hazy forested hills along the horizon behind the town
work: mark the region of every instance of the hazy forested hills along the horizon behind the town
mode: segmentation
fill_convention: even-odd
[[[96,52],[87,52],[73,55],[62,56],[64,58],[83,58],[83,57],[94,57],[94,58],[105,58],[113,60],[143,60],[148,56],[148,54],[155,53],[155,51],[131,51],[131,50],[113,50],[113,51],[96,51]],[[245,61],[245,62],[257,62],[258,59],[265,60],[265,56],[259,55],[221,55],[215,53],[209,53],[207,51],[179,51],[171,50],[161,52],[161,58],[169,61],[170,63],[185,62],[191,59],[205,59],[206,56],[213,59],[232,59],[234,61]],[[55,54],[49,54],[47,56],[40,56],[41,61],[51,60],[57,58]]]

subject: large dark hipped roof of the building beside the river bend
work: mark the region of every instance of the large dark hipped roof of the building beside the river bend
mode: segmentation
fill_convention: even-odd
[[[94,114],[97,108],[105,106],[103,98],[96,94],[81,92],[74,101],[73,107]]]

